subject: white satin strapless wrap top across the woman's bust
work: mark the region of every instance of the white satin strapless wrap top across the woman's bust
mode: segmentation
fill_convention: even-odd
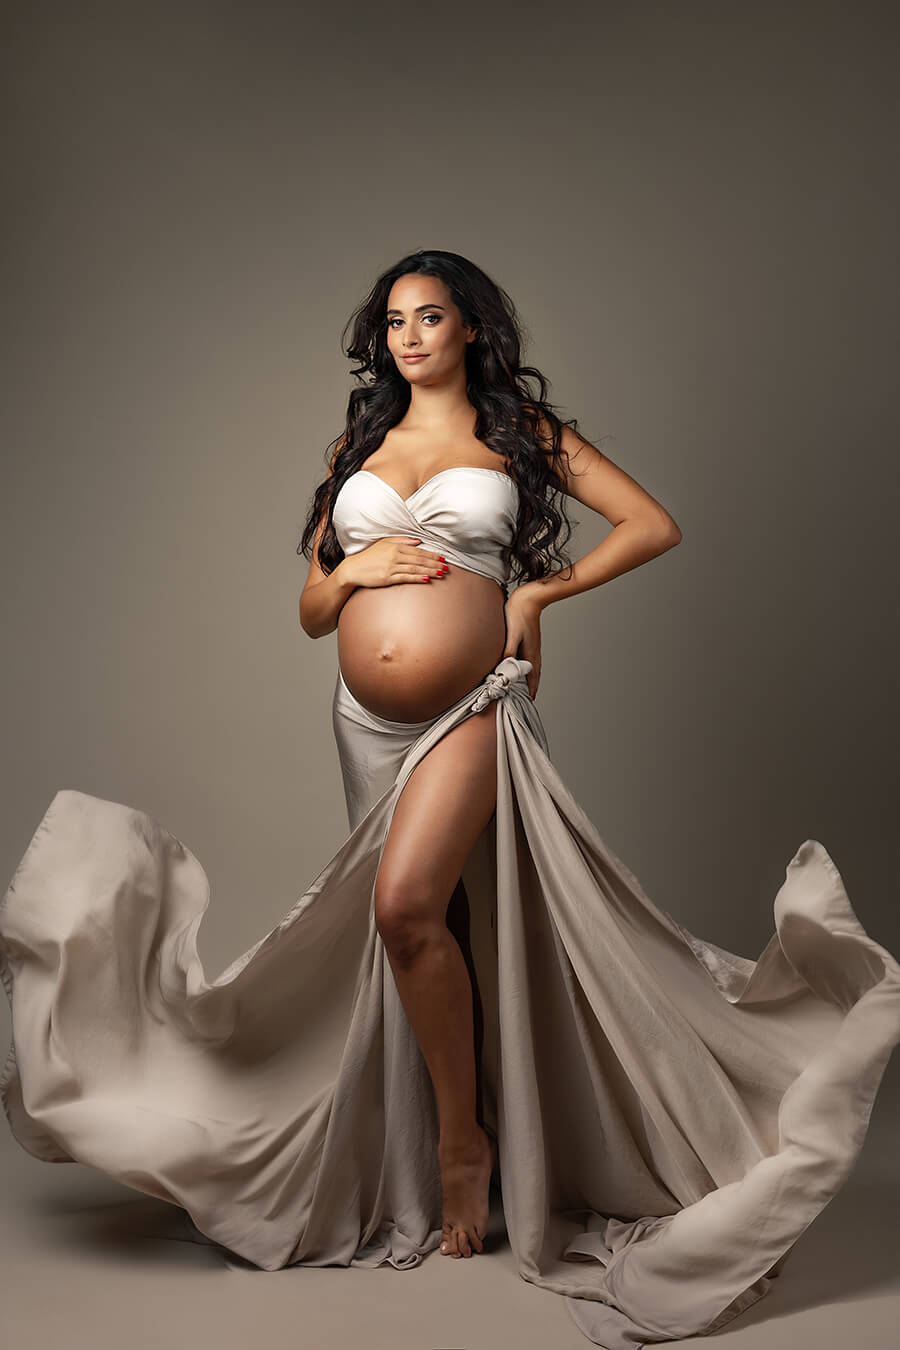
[[[359,468],[335,500],[332,520],[345,555],[385,535],[412,535],[470,572],[503,586],[510,574],[502,549],[518,516],[518,487],[499,468],[456,464],[401,497],[378,474]]]

